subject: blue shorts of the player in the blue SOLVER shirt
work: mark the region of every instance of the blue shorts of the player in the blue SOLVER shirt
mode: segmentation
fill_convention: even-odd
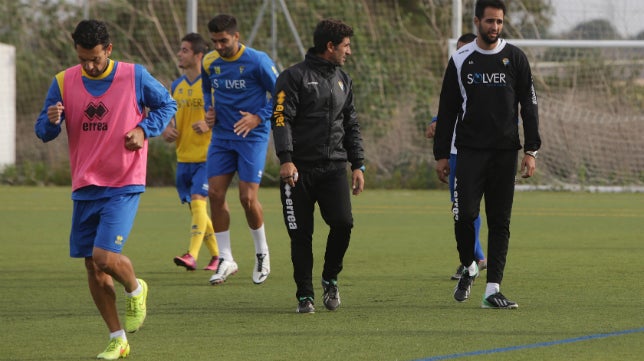
[[[264,141],[213,140],[208,148],[208,178],[237,171],[240,180],[260,183],[267,149]]]

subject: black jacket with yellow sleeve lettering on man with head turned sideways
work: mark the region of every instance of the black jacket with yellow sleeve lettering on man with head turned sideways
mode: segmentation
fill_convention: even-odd
[[[280,74],[273,100],[280,163],[293,162],[303,170],[346,161],[351,169],[363,165],[352,81],[339,66],[309,50],[304,61]]]

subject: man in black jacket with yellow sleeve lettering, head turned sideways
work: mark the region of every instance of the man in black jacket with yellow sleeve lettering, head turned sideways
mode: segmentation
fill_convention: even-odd
[[[338,274],[353,228],[347,161],[353,194],[360,194],[364,187],[364,151],[351,78],[340,68],[351,55],[352,35],[350,26],[322,20],[305,60],[283,71],[275,86],[271,122],[281,164],[280,193],[291,238],[299,313],[315,312],[315,203],[330,228],[322,271],[323,302],[335,310],[340,306]]]

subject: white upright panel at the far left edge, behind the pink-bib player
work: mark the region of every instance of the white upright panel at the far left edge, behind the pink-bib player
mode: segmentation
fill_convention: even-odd
[[[0,171],[16,163],[16,48],[0,43]]]

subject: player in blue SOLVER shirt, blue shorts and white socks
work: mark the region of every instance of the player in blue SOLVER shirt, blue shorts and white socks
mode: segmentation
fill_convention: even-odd
[[[237,272],[230,247],[230,212],[226,191],[239,175],[239,199],[255,243],[253,282],[263,283],[270,261],[262,205],[257,197],[264,172],[277,69],[261,51],[239,42],[237,20],[218,15],[208,23],[215,51],[202,67],[206,121],[213,128],[208,150],[208,186],[212,222],[217,231],[219,268],[210,278],[223,283]]]

